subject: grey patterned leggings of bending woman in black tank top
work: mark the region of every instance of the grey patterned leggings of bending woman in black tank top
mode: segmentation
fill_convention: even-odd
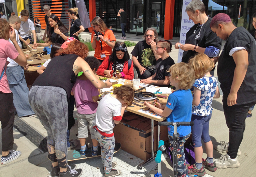
[[[68,101],[66,91],[59,87],[33,86],[28,98],[32,109],[47,131],[47,144],[55,146],[58,159],[67,157]],[[51,148],[48,148],[48,151],[52,154]]]

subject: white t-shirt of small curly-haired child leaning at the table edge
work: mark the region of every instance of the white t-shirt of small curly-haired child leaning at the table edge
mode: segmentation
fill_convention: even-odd
[[[122,104],[111,95],[105,95],[97,108],[94,124],[97,128],[107,134],[113,133],[115,126],[113,117],[121,116]]]

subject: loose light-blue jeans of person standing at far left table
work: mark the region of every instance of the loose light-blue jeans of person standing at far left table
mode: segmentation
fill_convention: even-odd
[[[35,114],[28,102],[28,87],[24,76],[24,69],[21,66],[6,68],[6,75],[10,89],[13,93],[13,103],[18,117]]]

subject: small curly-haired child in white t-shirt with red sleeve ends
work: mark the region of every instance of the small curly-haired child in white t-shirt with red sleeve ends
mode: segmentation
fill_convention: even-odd
[[[101,99],[94,120],[94,135],[101,147],[104,177],[120,174],[120,170],[112,169],[116,166],[116,162],[112,162],[115,148],[113,128],[122,120],[125,109],[132,104],[134,97],[132,88],[127,85],[115,87],[113,93]]]

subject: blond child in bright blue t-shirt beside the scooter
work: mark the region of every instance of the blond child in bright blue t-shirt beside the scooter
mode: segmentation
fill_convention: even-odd
[[[169,95],[167,104],[162,105],[155,100],[155,105],[145,101],[145,105],[155,111],[157,114],[166,117],[168,122],[190,122],[192,109],[192,94],[189,90],[194,84],[195,71],[186,63],[177,63],[170,67],[170,84],[176,87],[176,91]],[[168,126],[169,140],[171,149],[174,147],[173,126]],[[178,138],[178,177],[188,177],[188,170],[185,162],[184,143],[191,133],[190,126],[177,127],[180,137]]]

